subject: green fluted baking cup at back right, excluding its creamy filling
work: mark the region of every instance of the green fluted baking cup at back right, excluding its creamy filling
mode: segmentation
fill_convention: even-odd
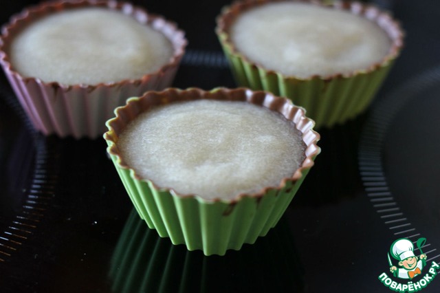
[[[331,4],[336,9],[361,14],[375,21],[388,33],[392,41],[391,49],[381,63],[373,64],[368,69],[359,70],[353,74],[296,78],[252,63],[238,52],[230,41],[228,30],[241,12],[271,1],[274,0],[236,2],[229,8],[225,8],[217,18],[217,36],[230,63],[236,83],[243,87],[271,91],[276,96],[290,98],[295,105],[307,109],[307,116],[315,120],[316,128],[333,127],[335,124],[342,124],[362,113],[370,105],[399,55],[404,36],[399,24],[388,14],[373,6],[362,6],[354,2]]]

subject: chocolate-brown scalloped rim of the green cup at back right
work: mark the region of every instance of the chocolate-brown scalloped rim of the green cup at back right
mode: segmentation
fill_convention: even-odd
[[[239,16],[243,11],[248,10],[250,8],[254,8],[256,6],[262,6],[266,3],[271,2],[302,2],[302,3],[310,3],[312,5],[316,6],[323,6],[323,7],[331,7],[338,10],[346,10],[348,12],[351,12],[353,14],[359,15],[361,17],[364,17],[366,19],[369,19],[370,21],[373,21],[374,23],[377,23],[382,30],[384,30],[388,37],[391,39],[391,47],[382,58],[382,61],[373,63],[370,65],[370,67],[367,67],[365,69],[357,69],[351,73],[348,74],[330,74],[328,76],[321,76],[319,74],[314,74],[306,78],[300,78],[296,77],[294,75],[286,75],[282,74],[280,72],[276,72],[272,69],[266,69],[262,65],[259,65],[258,63],[255,63],[253,61],[250,61],[244,54],[239,52],[239,50],[236,49],[234,46],[234,43],[232,43],[230,39],[229,30],[234,23],[234,20],[236,17]],[[375,6],[367,5],[360,2],[351,2],[351,1],[335,1],[333,3],[325,3],[325,1],[319,1],[319,0],[243,0],[243,1],[236,1],[235,3],[232,3],[231,6],[227,6],[222,9],[221,14],[217,17],[217,27],[215,28],[215,32],[219,36],[220,41],[223,43],[225,47],[228,48],[230,53],[234,56],[238,56],[239,58],[242,58],[246,63],[249,63],[252,65],[252,67],[257,69],[263,69],[267,74],[275,74],[278,76],[282,76],[285,80],[294,79],[294,80],[312,80],[316,78],[320,78],[323,80],[331,80],[333,78],[350,78],[358,74],[368,74],[369,72],[373,72],[376,69],[379,69],[380,67],[386,67],[391,61],[393,61],[397,56],[399,56],[399,52],[401,51],[401,48],[404,45],[404,32],[401,29],[400,23],[393,19],[388,12],[384,12],[380,10],[379,8],[376,8]]]

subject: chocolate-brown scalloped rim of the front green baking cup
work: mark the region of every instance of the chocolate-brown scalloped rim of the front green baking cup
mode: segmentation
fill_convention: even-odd
[[[173,188],[159,187],[153,181],[137,175],[134,169],[131,169],[131,167],[124,162],[117,146],[119,134],[123,131],[124,127],[126,127],[126,125],[129,124],[129,122],[131,122],[140,113],[148,111],[148,109],[153,107],[166,105],[172,102],[199,99],[250,102],[254,105],[266,107],[267,109],[281,113],[281,115],[287,118],[287,120],[294,122],[296,129],[303,134],[303,142],[306,145],[305,160],[294,172],[292,177],[283,178],[278,187],[265,187],[257,193],[240,193],[233,199],[205,199],[199,195],[181,194],[174,191]],[[230,204],[239,202],[242,197],[261,198],[270,190],[281,191],[286,186],[287,182],[294,183],[303,177],[303,174],[305,173],[304,171],[314,166],[314,158],[320,153],[320,147],[317,145],[318,140],[320,140],[320,135],[313,130],[315,122],[314,120],[311,120],[305,116],[305,109],[293,105],[292,101],[286,98],[274,96],[267,91],[252,91],[251,89],[247,88],[227,89],[223,87],[212,89],[212,91],[204,91],[203,89],[199,88],[169,88],[164,91],[147,91],[146,94],[140,98],[129,98],[129,100],[126,101],[126,105],[115,109],[115,115],[115,118],[112,118],[106,122],[109,131],[104,133],[103,136],[104,140],[107,140],[107,152],[117,157],[118,166],[123,169],[129,169],[131,176],[135,180],[150,183],[156,190],[168,191],[171,194],[177,195],[181,198],[197,198],[201,202],[226,202]]]

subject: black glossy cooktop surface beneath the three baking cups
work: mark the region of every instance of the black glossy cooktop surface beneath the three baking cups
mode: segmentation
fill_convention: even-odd
[[[186,31],[175,87],[234,87],[214,34],[229,1],[133,2]],[[278,225],[224,257],[159,238],[104,140],[36,133],[1,75],[0,292],[391,292],[379,276],[402,237],[425,237],[440,262],[440,3],[373,2],[406,31],[375,102],[319,131],[322,153]],[[30,3],[2,4],[1,23]],[[440,277],[421,292],[440,292]]]

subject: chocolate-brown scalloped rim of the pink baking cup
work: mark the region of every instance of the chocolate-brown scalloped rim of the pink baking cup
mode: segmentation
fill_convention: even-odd
[[[174,53],[170,58],[168,63],[157,69],[155,72],[150,72],[144,74],[140,78],[136,79],[123,79],[115,82],[98,83],[94,85],[87,84],[76,84],[76,85],[65,85],[63,83],[58,83],[57,81],[45,82],[37,77],[24,77],[21,76],[19,72],[14,69],[8,57],[8,50],[10,49],[10,43],[14,39],[14,35],[23,30],[26,26],[30,25],[32,21],[45,17],[47,14],[59,12],[65,9],[74,8],[85,8],[85,7],[102,7],[109,8],[111,10],[116,10],[122,12],[125,15],[133,17],[136,21],[143,25],[151,25],[155,30],[162,32],[173,45]],[[12,74],[17,79],[22,80],[26,83],[28,80],[36,80],[37,83],[42,85],[47,85],[55,88],[62,88],[65,91],[72,89],[74,87],[87,89],[87,91],[93,91],[97,87],[114,87],[121,86],[124,84],[140,85],[150,79],[151,76],[164,75],[170,69],[173,69],[179,65],[179,62],[184,55],[185,47],[188,42],[185,39],[184,32],[177,28],[177,25],[172,21],[167,21],[164,17],[156,14],[150,14],[143,8],[133,6],[133,4],[128,2],[118,2],[112,0],[78,0],[78,1],[50,1],[43,2],[37,6],[31,6],[25,8],[22,12],[14,14],[9,23],[3,25],[1,28],[0,36],[0,63],[3,65],[3,69]]]

